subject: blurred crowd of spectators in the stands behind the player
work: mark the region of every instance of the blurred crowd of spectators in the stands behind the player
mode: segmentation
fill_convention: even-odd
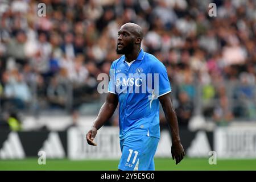
[[[97,76],[119,57],[119,27],[134,22],[144,51],[166,65],[181,126],[195,114],[256,119],[256,1],[2,0],[0,20],[2,111],[76,110],[98,100]]]

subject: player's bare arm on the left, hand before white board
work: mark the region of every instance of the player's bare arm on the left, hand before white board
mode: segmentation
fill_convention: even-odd
[[[109,118],[114,114],[115,109],[118,105],[118,98],[116,94],[108,93],[106,101],[101,106],[101,109],[98,113],[97,118],[95,119],[92,129],[86,134],[87,143],[96,146],[97,144],[93,142],[93,139],[96,137],[98,129],[101,128],[108,121]]]

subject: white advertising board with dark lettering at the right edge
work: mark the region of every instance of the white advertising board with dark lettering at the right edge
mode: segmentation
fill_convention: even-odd
[[[256,158],[255,127],[219,127],[213,141],[218,158]]]

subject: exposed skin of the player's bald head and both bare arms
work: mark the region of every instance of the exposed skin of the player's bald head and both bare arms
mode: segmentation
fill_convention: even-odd
[[[118,31],[117,40],[117,53],[125,54],[126,61],[131,62],[137,59],[139,51],[141,50],[141,41],[143,39],[142,28],[134,23],[124,24]],[[163,107],[164,114],[166,115],[166,120],[171,130],[172,136],[172,147],[171,154],[172,159],[176,160],[178,164],[185,155],[183,146],[180,142],[179,137],[179,126],[177,122],[177,117],[175,109],[172,106],[170,93],[164,94],[159,97],[158,100]],[[93,123],[92,129],[86,134],[86,140],[88,144],[96,146],[97,144],[93,142],[96,137],[97,131],[108,121],[114,114],[115,109],[118,105],[117,94],[108,93],[106,101],[102,105],[96,120]]]

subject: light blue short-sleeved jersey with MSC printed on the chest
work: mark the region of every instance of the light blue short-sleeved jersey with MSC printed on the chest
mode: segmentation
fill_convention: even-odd
[[[118,95],[119,137],[160,138],[158,97],[171,92],[166,67],[141,49],[129,66],[125,55],[112,63],[108,92]]]

